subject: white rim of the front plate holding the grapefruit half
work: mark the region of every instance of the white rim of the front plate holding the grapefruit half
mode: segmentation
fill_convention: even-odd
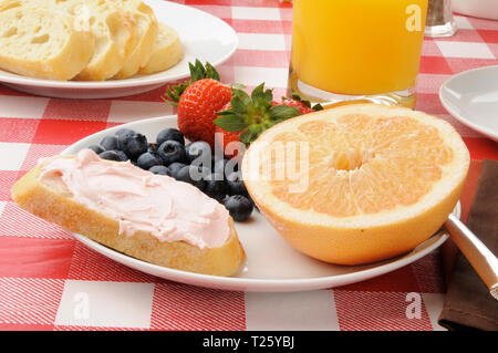
[[[122,124],[113,126],[92,135],[89,135],[74,144],[68,146],[61,152],[61,155],[68,155],[73,153],[73,150],[79,150],[84,146],[89,145],[89,141],[93,139],[95,135],[104,135],[116,132],[120,128],[135,128],[143,124],[148,124],[156,122],[158,120],[173,120],[176,122],[176,115],[167,115],[162,117],[152,117],[146,120],[139,120],[131,122],[127,124]],[[459,218],[461,212],[461,206],[458,201],[454,209],[454,215]],[[439,230],[433,235],[429,239],[421,243],[417,248],[423,247],[427,242],[432,242],[422,250],[405,253],[401,256],[400,259],[394,260],[388,263],[380,264],[378,267],[369,268],[365,270],[360,270],[356,272],[326,276],[326,277],[315,277],[315,278],[304,278],[304,279],[253,279],[253,278],[237,278],[237,277],[219,277],[211,274],[201,274],[188,271],[181,271],[177,269],[166,268],[158,264],[153,264],[146,261],[138,260],[136,258],[129,257],[106,246],[103,246],[85,236],[72,232],[72,235],[81,241],[86,247],[100,252],[101,255],[111,258],[124,266],[131,267],[133,269],[139,270],[144,273],[153,274],[163,279],[173,280],[176,282],[193,284],[205,288],[221,289],[221,290],[236,290],[236,291],[247,291],[247,292],[294,292],[294,291],[309,291],[319,289],[331,289],[334,287],[351,284],[361,282],[367,279],[372,279],[387,272],[397,270],[404,266],[407,266],[433,250],[442,246],[448,238],[449,235],[443,230]],[[144,271],[146,268],[148,271]],[[158,276],[155,273],[160,273]],[[167,276],[164,276],[164,274]]]

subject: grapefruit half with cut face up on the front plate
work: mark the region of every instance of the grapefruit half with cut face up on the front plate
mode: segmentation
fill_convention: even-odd
[[[295,249],[360,264],[434,235],[456,206],[468,167],[468,149],[447,122],[359,104],[267,129],[246,152],[242,176],[258,208]]]

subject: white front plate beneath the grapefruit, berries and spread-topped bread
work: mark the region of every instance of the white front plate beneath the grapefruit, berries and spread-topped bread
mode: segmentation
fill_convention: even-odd
[[[174,115],[124,124],[83,138],[64,149],[62,154],[75,154],[84,147],[98,144],[104,136],[114,134],[123,127],[133,128],[146,135],[149,141],[155,141],[160,129],[176,126]],[[459,204],[454,214],[460,216]],[[317,290],[363,281],[418,260],[448,238],[445,232],[439,231],[413,251],[391,260],[365,266],[334,266],[294,250],[256,210],[248,221],[236,222],[236,229],[246,250],[247,260],[239,273],[234,277],[168,269],[128,257],[84,236],[74,233],[74,237],[103,256],[153,276],[200,287],[262,292]]]

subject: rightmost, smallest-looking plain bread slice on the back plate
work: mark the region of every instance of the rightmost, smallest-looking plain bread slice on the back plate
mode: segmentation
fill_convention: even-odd
[[[141,73],[155,73],[176,65],[184,56],[178,33],[164,23],[159,23],[159,32],[154,44],[153,54],[148,63],[141,69]]]

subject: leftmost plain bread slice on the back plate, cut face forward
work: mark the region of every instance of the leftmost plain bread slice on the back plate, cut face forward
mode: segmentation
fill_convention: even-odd
[[[90,62],[94,37],[74,17],[46,8],[0,4],[0,69],[21,75],[70,80]]]

